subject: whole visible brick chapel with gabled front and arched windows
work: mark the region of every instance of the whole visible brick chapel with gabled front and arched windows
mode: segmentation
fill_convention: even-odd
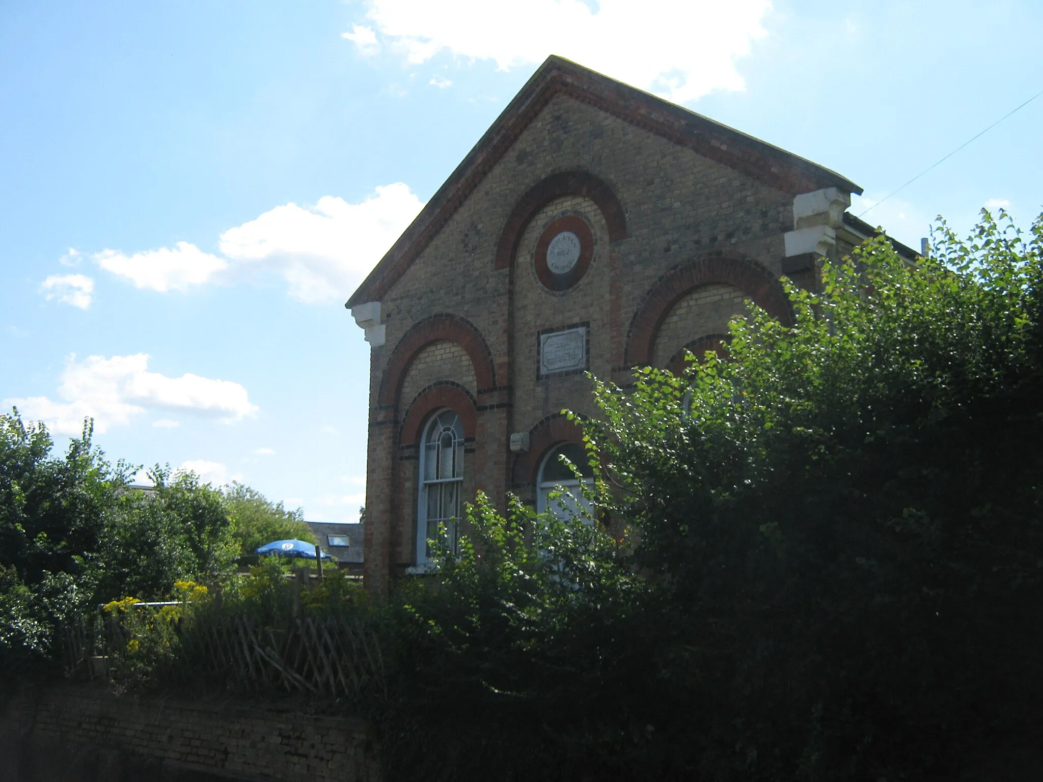
[[[347,307],[371,347],[367,586],[483,489],[541,506],[584,375],[677,368],[874,231],[840,174],[552,56]],[[907,248],[900,248],[907,250]]]

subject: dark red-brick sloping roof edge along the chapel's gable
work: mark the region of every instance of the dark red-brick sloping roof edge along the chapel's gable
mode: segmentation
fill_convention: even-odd
[[[552,54],[369,272],[345,307],[379,301],[557,95],[593,105],[785,193],[796,195],[829,187],[862,193],[862,188],[835,171]]]

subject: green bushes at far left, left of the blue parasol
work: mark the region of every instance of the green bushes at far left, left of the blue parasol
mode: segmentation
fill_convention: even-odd
[[[55,654],[55,628],[127,594],[167,594],[176,579],[226,571],[237,554],[220,492],[156,468],[134,468],[92,444],[93,425],[63,458],[42,423],[0,415],[0,656]]]

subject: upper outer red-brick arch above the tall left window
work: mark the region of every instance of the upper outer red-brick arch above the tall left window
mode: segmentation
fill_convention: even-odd
[[[413,359],[432,342],[441,340],[456,342],[467,353],[475,369],[475,381],[478,383],[479,392],[495,388],[496,376],[492,352],[475,324],[458,315],[432,315],[414,323],[391,351],[378,395],[381,406],[398,402],[402,384],[406,380],[406,372]]]

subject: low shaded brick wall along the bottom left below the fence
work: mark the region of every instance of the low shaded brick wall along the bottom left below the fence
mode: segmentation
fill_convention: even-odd
[[[378,782],[380,769],[359,719],[60,685],[0,703],[0,779]]]

